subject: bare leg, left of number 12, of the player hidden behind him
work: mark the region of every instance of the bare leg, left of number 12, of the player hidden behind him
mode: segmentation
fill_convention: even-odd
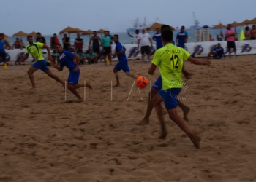
[[[153,98],[155,95],[157,95],[157,92],[161,89],[162,89],[162,77],[159,76],[157,81],[154,82],[154,85],[151,87],[150,92],[148,92],[148,106],[147,106],[146,115],[140,122],[136,123],[137,125],[149,124],[149,117],[154,108]]]

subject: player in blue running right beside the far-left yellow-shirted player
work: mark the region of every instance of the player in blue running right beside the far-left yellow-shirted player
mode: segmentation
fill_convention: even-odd
[[[80,87],[84,87],[84,84],[78,84],[80,69],[79,69],[79,56],[75,55],[69,51],[63,50],[61,44],[56,44],[55,46],[56,52],[59,53],[59,63],[60,67],[54,64],[54,68],[59,71],[63,70],[63,67],[66,66],[69,68],[69,78],[67,79],[67,88],[70,90],[75,96],[78,97],[78,101],[83,101],[81,96],[79,95],[76,89]],[[86,83],[86,87],[89,87],[92,90],[92,87],[89,83]]]

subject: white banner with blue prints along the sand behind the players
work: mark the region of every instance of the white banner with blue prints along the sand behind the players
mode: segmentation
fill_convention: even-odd
[[[190,54],[195,55],[195,57],[206,57],[211,49],[217,46],[220,43],[221,47],[225,50],[225,54],[228,55],[227,51],[227,41],[203,41],[197,43],[187,43],[185,44],[185,50]],[[256,54],[256,40],[249,41],[235,41],[236,43],[236,55],[253,55]],[[112,45],[112,52],[115,52],[116,45]],[[137,44],[124,44],[126,50],[127,59],[135,60],[140,59],[141,55],[137,49]],[[9,61],[19,61],[20,55],[24,55],[26,49],[15,49],[15,50],[5,50],[7,52],[7,60]],[[47,50],[42,50],[44,57],[48,58]],[[85,50],[86,52],[86,50]],[[155,45],[151,47],[151,56],[154,55]],[[233,52],[233,50],[232,50]],[[113,57],[113,60],[117,60],[116,57]],[[32,62],[33,58],[29,55],[29,59],[26,62]],[[1,58],[0,58],[1,63]]]

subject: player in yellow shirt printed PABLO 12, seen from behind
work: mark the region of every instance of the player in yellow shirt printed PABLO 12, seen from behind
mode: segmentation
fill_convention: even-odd
[[[181,47],[176,47],[171,42],[173,41],[173,31],[165,30],[162,32],[162,43],[164,47],[157,50],[154,53],[151,67],[148,70],[148,74],[154,74],[157,66],[162,77],[162,90],[159,90],[158,94],[154,96],[153,103],[157,111],[157,116],[161,124],[162,133],[159,139],[164,139],[167,136],[167,130],[165,128],[165,121],[162,114],[161,103],[164,101],[165,108],[169,114],[169,117],[175,122],[178,127],[181,128],[194,143],[196,148],[200,148],[200,138],[197,137],[192,130],[190,130],[187,122],[178,115],[177,111],[177,95],[181,92],[182,78],[181,70],[183,67],[183,60],[189,60],[191,63],[197,65],[211,66],[210,60],[197,60],[192,58],[186,50]]]

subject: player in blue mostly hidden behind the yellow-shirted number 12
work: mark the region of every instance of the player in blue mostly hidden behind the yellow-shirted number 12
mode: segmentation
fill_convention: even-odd
[[[169,25],[162,25],[161,32],[166,30],[166,29],[171,30]],[[172,41],[172,44],[175,45],[175,42]],[[192,75],[187,70],[185,70],[184,66],[182,68],[182,73],[184,74],[184,76],[187,79],[190,79],[190,76]],[[157,81],[154,82],[154,85],[152,86],[150,92],[148,93],[149,100],[148,100],[148,107],[147,107],[146,115],[144,116],[144,118],[140,122],[136,123],[137,125],[149,124],[149,117],[150,117],[151,112],[154,108],[152,98],[154,98],[154,95],[157,95],[157,92],[161,89],[162,89],[162,77],[160,75],[158,77]],[[177,100],[177,101],[178,101],[178,106],[183,111],[183,118],[188,122],[189,119],[188,119],[187,115],[189,114],[190,108],[188,106],[184,105],[184,103],[182,103],[180,100]]]

